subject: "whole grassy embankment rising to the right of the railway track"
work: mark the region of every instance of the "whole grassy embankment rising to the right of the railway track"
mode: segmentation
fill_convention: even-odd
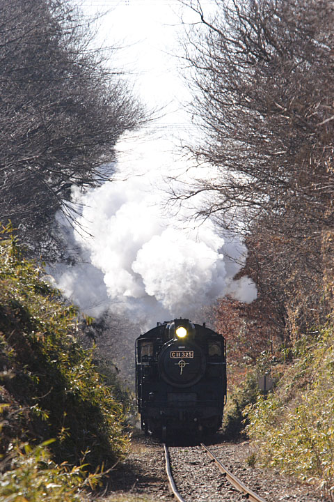
[[[235,437],[246,425],[253,443],[248,461],[315,484],[334,499],[334,328],[303,336],[269,365],[259,361],[234,389],[224,425]],[[273,391],[262,395],[257,379],[271,372]],[[242,420],[244,418],[244,423]]]

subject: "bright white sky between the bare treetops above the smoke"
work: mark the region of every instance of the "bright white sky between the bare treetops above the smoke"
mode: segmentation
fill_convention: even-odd
[[[204,4],[208,7],[208,0]],[[190,96],[175,54],[180,54],[177,38],[184,31],[181,16],[186,22],[198,20],[191,10],[177,0],[81,0],[81,5],[87,13],[110,10],[101,21],[100,37],[106,45],[123,47],[113,64],[129,72],[135,93],[150,107],[166,107],[161,119],[166,135],[189,130],[183,105]]]

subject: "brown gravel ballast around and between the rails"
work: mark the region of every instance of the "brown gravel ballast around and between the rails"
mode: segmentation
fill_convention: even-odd
[[[225,467],[267,502],[324,502],[315,487],[280,476],[275,471],[251,467],[247,459],[250,443],[230,443],[216,434],[204,441]],[[246,497],[237,492],[218,471],[200,446],[169,446],[175,484],[186,502],[240,502]],[[173,501],[168,487],[164,448],[156,439],[138,434],[132,438],[127,461],[111,473],[109,493],[100,501]],[[96,500],[96,499],[95,499]]]

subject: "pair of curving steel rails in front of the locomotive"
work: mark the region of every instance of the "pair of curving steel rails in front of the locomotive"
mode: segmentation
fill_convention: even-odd
[[[255,492],[253,492],[253,490],[248,488],[241,480],[239,480],[236,476],[234,476],[234,474],[232,472],[228,471],[228,469],[226,469],[226,467],[217,459],[217,457],[214,455],[214,453],[211,452],[209,450],[209,448],[207,448],[207,446],[205,446],[203,443],[201,443],[201,448],[206,453],[206,455],[209,457],[209,459],[212,460],[212,462],[214,462],[214,465],[219,469],[221,474],[223,474],[224,478],[226,480],[228,480],[230,485],[232,485],[235,489],[237,489],[237,491],[240,492],[240,494],[242,494],[242,496],[246,497],[246,499],[248,499],[251,502],[266,502],[260,495],[257,495]],[[164,452],[165,452],[165,462],[166,462],[166,473],[168,476],[168,481],[170,483],[170,489],[172,490],[172,492],[175,496],[175,499],[177,499],[178,502],[187,502],[186,499],[184,499],[181,496],[181,494],[179,493],[177,486],[175,484],[175,481],[173,479],[172,469],[170,466],[170,452],[169,452],[166,444],[164,444]],[[201,462],[191,462],[191,464],[197,464],[197,465],[200,465],[200,463]],[[184,458],[184,465],[186,465],[186,458]],[[218,471],[217,471],[216,477],[219,478]],[[222,486],[223,486],[223,483],[218,485],[220,491],[221,491]],[[196,487],[194,487],[194,489],[196,490]],[[217,492],[217,496],[218,496],[218,492]],[[225,497],[222,500],[226,500]],[[235,500],[238,500],[238,499],[235,499]]]

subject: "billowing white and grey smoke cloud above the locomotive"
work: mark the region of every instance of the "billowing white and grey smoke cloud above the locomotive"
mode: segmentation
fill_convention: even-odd
[[[184,213],[177,224],[161,174],[148,169],[157,158],[136,155],[137,175],[85,195],[74,188],[83,210],[72,238],[82,260],[58,269],[58,287],[87,314],[111,309],[148,324],[181,316],[195,321],[203,305],[227,294],[253,301],[255,284],[233,280],[246,259],[244,244],[218,234],[210,220],[195,226]]]

